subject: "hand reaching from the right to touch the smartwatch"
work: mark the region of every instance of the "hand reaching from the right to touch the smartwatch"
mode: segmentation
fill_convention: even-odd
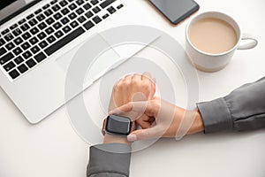
[[[156,137],[176,137],[177,133],[192,135],[204,129],[201,114],[197,110],[186,111],[159,97],[145,102],[131,102],[110,113],[125,114],[133,119],[148,122],[148,128],[135,130],[127,136],[130,142]],[[142,114],[147,117],[143,117]],[[150,121],[153,118],[155,121]]]

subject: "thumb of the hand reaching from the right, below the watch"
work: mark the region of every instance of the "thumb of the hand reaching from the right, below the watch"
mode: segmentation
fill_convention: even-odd
[[[150,127],[147,129],[139,129],[133,131],[130,135],[127,135],[128,142],[134,142],[136,140],[147,140],[155,138],[159,135],[156,127]]]

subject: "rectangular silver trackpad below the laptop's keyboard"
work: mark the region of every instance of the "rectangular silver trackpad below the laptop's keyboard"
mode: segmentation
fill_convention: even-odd
[[[83,86],[107,73],[113,65],[119,63],[120,57],[101,35],[93,35],[87,41],[57,59],[57,64],[66,73],[66,79]]]

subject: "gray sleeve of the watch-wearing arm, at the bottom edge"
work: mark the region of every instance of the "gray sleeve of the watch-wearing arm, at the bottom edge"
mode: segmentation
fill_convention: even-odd
[[[90,147],[87,177],[128,177],[131,147],[122,143]]]

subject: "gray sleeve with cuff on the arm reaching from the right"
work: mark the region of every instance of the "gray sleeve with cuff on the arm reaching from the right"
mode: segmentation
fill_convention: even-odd
[[[228,96],[197,106],[206,134],[265,127],[265,77],[235,89]]]

